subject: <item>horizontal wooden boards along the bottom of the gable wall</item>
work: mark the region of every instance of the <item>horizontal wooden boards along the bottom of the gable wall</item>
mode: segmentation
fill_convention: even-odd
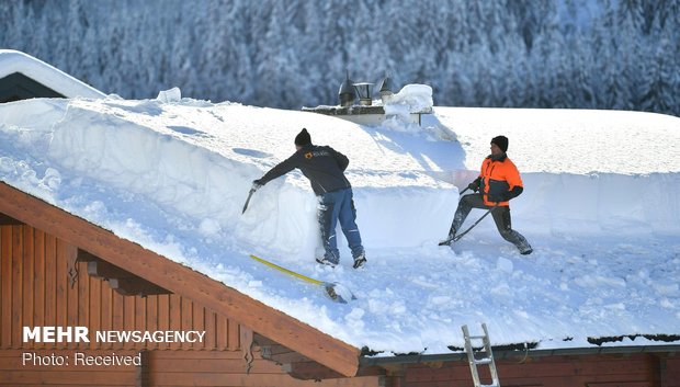
[[[38,356],[71,356],[78,350],[38,350]],[[0,386],[252,386],[252,387],[384,387],[379,377],[355,377],[322,382],[298,380],[280,366],[256,355],[250,372],[240,351],[145,352],[145,367],[136,366],[30,366],[22,364],[22,350],[0,351]],[[33,352],[33,351],[32,351]],[[111,351],[87,351],[111,355]],[[136,355],[136,351],[115,351]]]

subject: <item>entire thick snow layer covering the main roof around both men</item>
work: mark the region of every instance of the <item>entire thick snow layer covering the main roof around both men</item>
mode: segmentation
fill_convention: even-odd
[[[679,118],[435,106],[423,125],[189,99],[20,101],[0,105],[0,180],[385,354],[449,352],[462,325],[479,322],[494,343],[539,348],[680,333]],[[342,239],[338,268],[314,262],[316,200],[299,172],[258,191],[241,215],[251,181],[294,151],[302,127],[350,158],[363,270]],[[534,253],[519,255],[490,219],[455,249],[438,247],[456,186],[499,134],[525,185],[513,227]],[[356,299],[333,303],[250,253]]]

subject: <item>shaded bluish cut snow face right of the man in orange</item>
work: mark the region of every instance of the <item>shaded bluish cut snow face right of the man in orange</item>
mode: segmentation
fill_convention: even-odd
[[[532,232],[680,235],[678,173],[644,175],[526,173],[512,207]]]

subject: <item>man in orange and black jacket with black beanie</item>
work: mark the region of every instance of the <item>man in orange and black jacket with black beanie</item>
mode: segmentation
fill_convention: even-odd
[[[469,190],[479,193],[461,198],[449,237],[442,243],[453,243],[457,230],[473,208],[492,208],[491,215],[501,237],[514,244],[520,253],[531,254],[533,250],[526,238],[512,229],[510,220],[510,200],[519,196],[524,189],[520,172],[506,155],[507,150],[508,137],[498,136],[491,139],[491,155],[481,162],[479,177],[467,185]]]

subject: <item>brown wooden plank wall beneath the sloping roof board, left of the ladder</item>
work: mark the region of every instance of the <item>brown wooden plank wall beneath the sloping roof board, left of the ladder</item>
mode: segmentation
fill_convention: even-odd
[[[26,225],[0,226],[0,386],[308,386],[378,387],[379,377],[297,380],[273,362],[241,351],[241,327],[178,295],[122,296],[106,282],[87,274],[78,263],[77,281],[69,273],[77,248]],[[71,285],[72,282],[72,285]],[[23,343],[23,327],[84,326],[90,332],[205,330],[201,344],[169,343]],[[134,365],[73,364],[75,353],[144,355]],[[23,361],[36,356],[69,356],[69,365]]]

